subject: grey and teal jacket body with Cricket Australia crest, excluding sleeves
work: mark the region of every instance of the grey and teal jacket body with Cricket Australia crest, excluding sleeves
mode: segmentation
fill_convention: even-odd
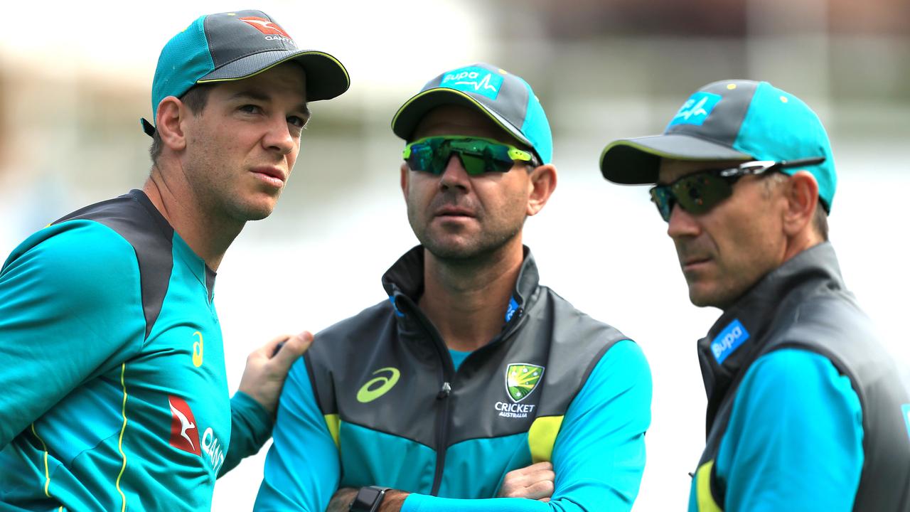
[[[305,360],[339,446],[339,486],[495,497],[507,472],[551,460],[572,399],[626,337],[540,286],[524,251],[501,333],[458,371],[415,302],[420,246],[383,276],[388,301],[317,334]]]

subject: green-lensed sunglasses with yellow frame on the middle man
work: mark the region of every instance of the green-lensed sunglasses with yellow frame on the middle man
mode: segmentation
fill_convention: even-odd
[[[461,167],[470,176],[485,172],[509,172],[516,161],[537,167],[537,159],[523,149],[503,144],[491,138],[426,137],[404,147],[402,156],[411,170],[422,170],[440,176],[449,165],[452,154],[458,155]]]

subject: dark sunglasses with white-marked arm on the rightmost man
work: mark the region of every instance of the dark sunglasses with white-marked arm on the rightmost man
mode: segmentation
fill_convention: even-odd
[[[780,169],[811,166],[824,162],[824,157],[811,159],[758,160],[744,162],[732,169],[706,169],[687,174],[667,185],[651,189],[651,200],[657,205],[663,220],[670,221],[677,203],[689,213],[705,213],[733,194],[733,183],[748,174],[763,174]]]

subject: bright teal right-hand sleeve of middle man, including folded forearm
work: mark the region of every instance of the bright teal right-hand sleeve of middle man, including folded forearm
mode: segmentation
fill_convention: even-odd
[[[632,341],[616,343],[572,401],[553,445],[550,502],[521,498],[452,499],[411,494],[402,512],[627,511],[644,471],[651,425],[651,370]]]

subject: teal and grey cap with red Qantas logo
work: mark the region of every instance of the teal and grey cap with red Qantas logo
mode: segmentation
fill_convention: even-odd
[[[348,70],[337,58],[299,49],[262,11],[199,16],[161,50],[152,80],[152,119],[165,97],[181,97],[197,84],[242,80],[288,61],[306,71],[307,101],[330,99],[348,90]],[[149,136],[155,133],[146,119],[141,123]]]

